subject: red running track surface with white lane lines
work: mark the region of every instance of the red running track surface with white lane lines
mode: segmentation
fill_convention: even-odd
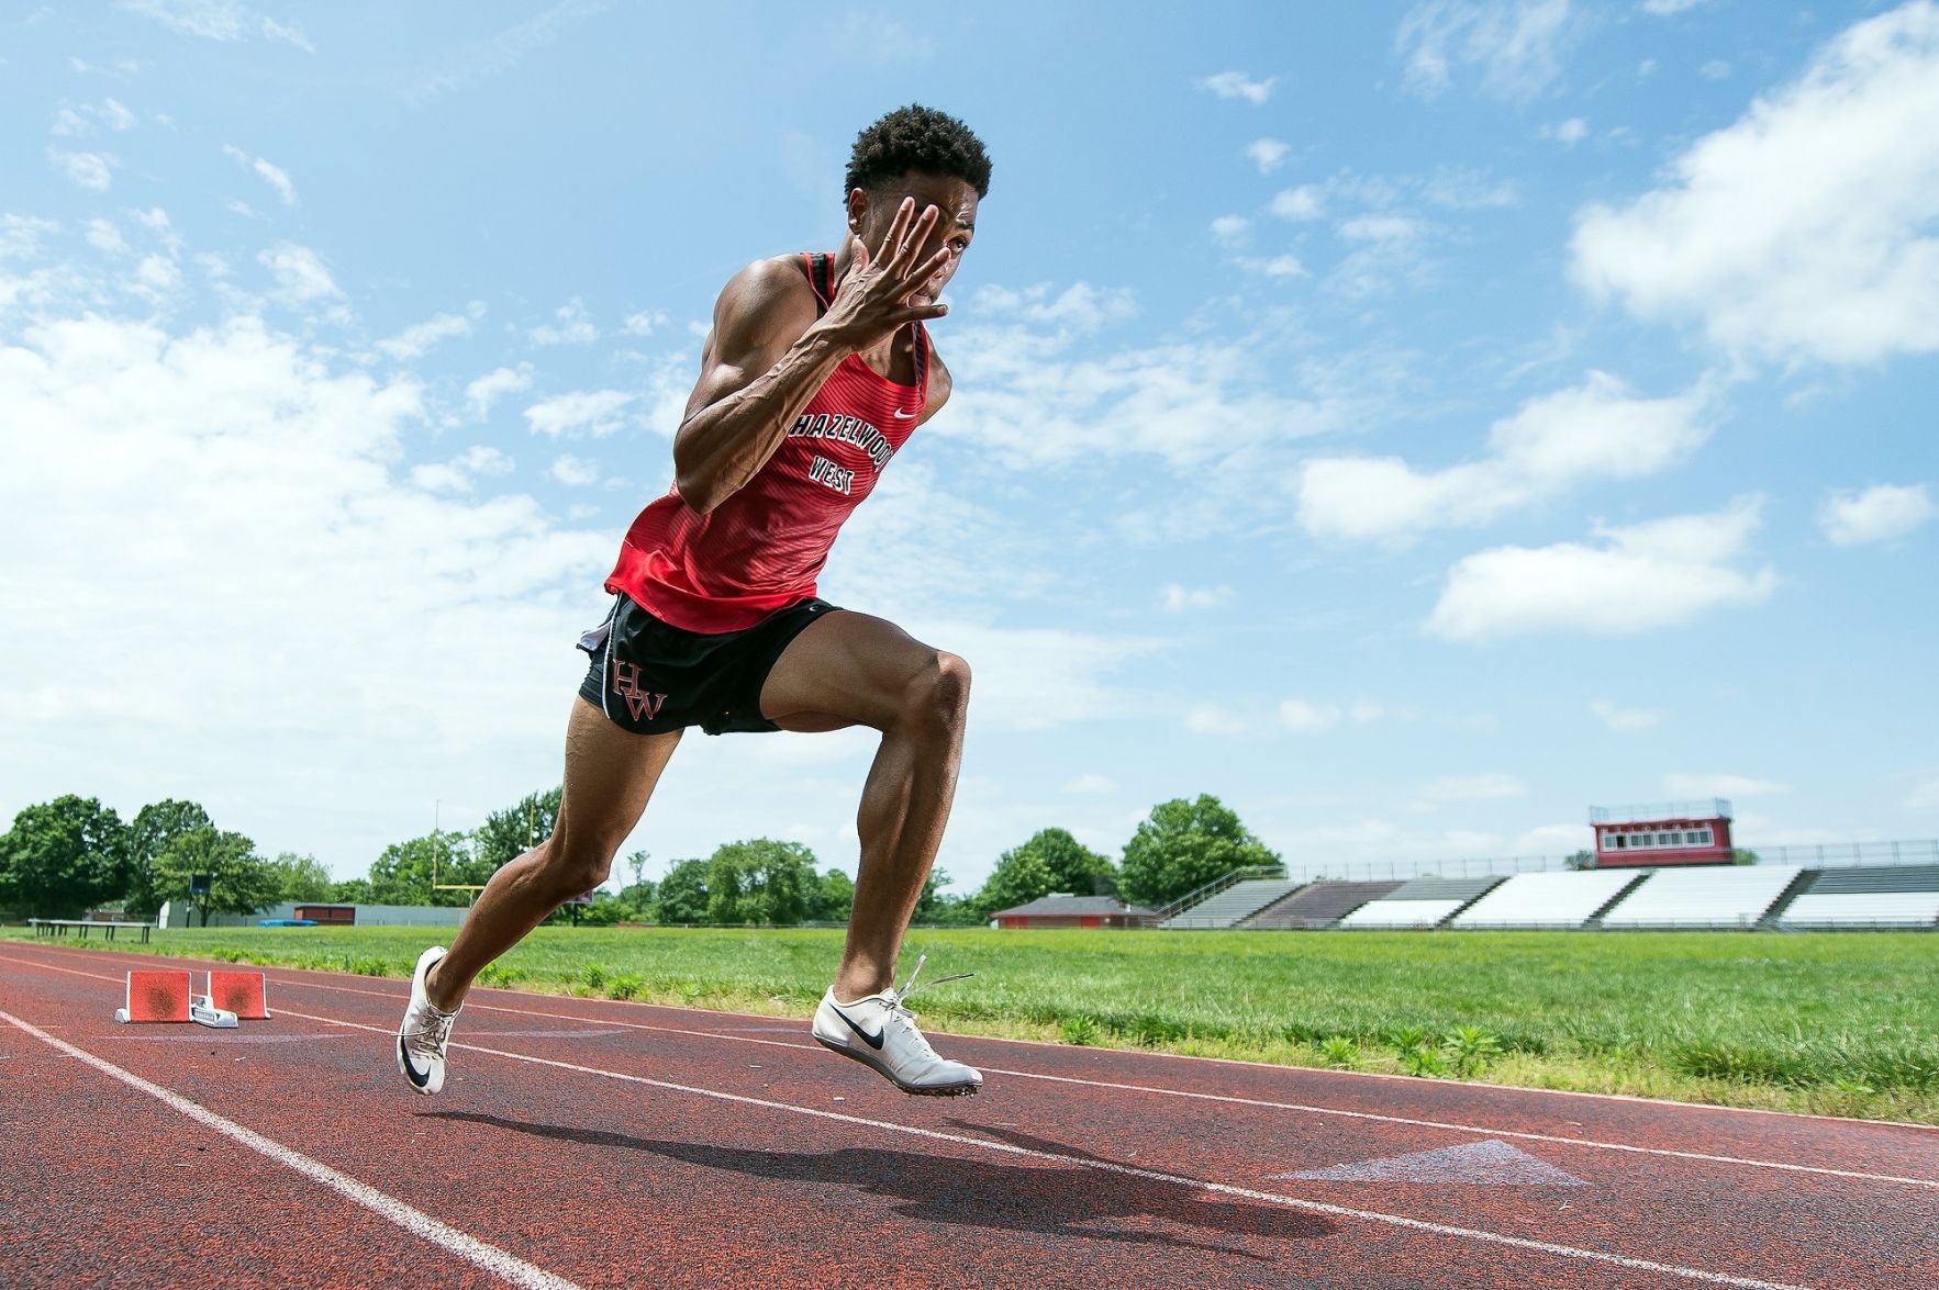
[[[114,1025],[143,963],[0,945],[8,1284],[1939,1286],[1939,1129],[981,1038],[909,1098],[805,1019],[502,990],[425,1098],[399,982]]]

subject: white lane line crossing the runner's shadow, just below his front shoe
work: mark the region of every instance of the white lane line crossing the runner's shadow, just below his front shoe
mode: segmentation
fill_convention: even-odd
[[[337,1017],[318,1017],[316,1013],[297,1013],[287,1007],[277,1007],[279,1013],[289,1017],[302,1017],[304,1021],[322,1021],[324,1025],[347,1027],[353,1030],[370,1030],[374,1034],[394,1034],[384,1027],[368,1027],[361,1021],[341,1021]],[[4,1013],[0,1013],[4,1015]],[[628,1075],[626,1071],[607,1071],[595,1065],[576,1065],[572,1061],[555,1061],[551,1058],[535,1058],[524,1052],[506,1052],[502,1048],[485,1048],[481,1044],[460,1044],[452,1042],[452,1048],[461,1048],[465,1052],[481,1052],[493,1058],[506,1058],[510,1061],[529,1061],[531,1065],[549,1065],[560,1071],[574,1071],[578,1075],[597,1075],[601,1079],[619,1079],[628,1085],[648,1085],[652,1089],[665,1089],[667,1092],[684,1092],[698,1098],[714,1098],[717,1102],[737,1102],[741,1106],[760,1106],[766,1110],[787,1112],[791,1116],[812,1116],[816,1120],[834,1120],[840,1123],[851,1123],[865,1129],[884,1129],[888,1133],[906,1133],[911,1137],[927,1137],[940,1143],[956,1143],[960,1147],[975,1147],[977,1151],[995,1151],[1001,1154],[1028,1156],[1032,1160],[1049,1160],[1053,1164],[1074,1164],[1086,1170],[1097,1170],[1101,1174],[1123,1174],[1127,1178],[1144,1178],[1150,1182],[1171,1183],[1175,1187],[1187,1187],[1191,1191],[1216,1191],[1220,1195],[1237,1195],[1249,1201],[1264,1201],[1266,1205],[1278,1205],[1282,1209],[1299,1209],[1313,1214],[1332,1214],[1336,1218],[1361,1218],[1365,1222],[1383,1222],[1394,1228],[1408,1228],[1412,1232],[1431,1232],[1435,1236],[1458,1236],[1472,1242],[1487,1242],[1493,1245],[1514,1245],[1516,1249],[1534,1249],[1540,1253],[1561,1255],[1563,1259],[1582,1259],[1586,1263],[1607,1263],[1613,1267],[1627,1267],[1644,1273],[1666,1273],[1669,1276],[1681,1276],[1685,1280],[1701,1280],[1714,1286],[1745,1286],[1747,1290],[1805,1290],[1805,1286],[1792,1286],[1774,1280],[1751,1280],[1747,1276],[1726,1276],[1722,1273],[1704,1273],[1695,1267],[1681,1267],[1675,1263],[1652,1263],[1648,1259],[1631,1259],[1627,1255],[1604,1253],[1600,1249],[1576,1249],[1574,1245],[1555,1245],[1551,1242],[1536,1242],[1526,1236],[1507,1236],[1503,1232],[1483,1232],[1481,1228],[1456,1228],[1445,1222],[1427,1222],[1423,1218],[1408,1218],[1404,1214],[1386,1214],[1377,1209],[1348,1209],[1346,1205],[1326,1205],[1322,1201],[1301,1201],[1299,1197],[1280,1195],[1278,1191],[1255,1191],[1251,1187],[1233,1187],[1231,1183],[1206,1182],[1202,1178],[1187,1178],[1183,1174],[1163,1174],[1160,1170],[1144,1170],[1132,1164],[1115,1164],[1111,1160],[1094,1160],[1088,1156],[1066,1156],[1057,1151],[1037,1151],[1033,1147],[1016,1147],[1014,1143],[993,1143],[983,1137],[966,1137],[962,1133],[942,1133],[940,1129],[919,1129],[907,1123],[894,1123],[890,1120],[867,1120],[863,1116],[847,1116],[842,1112],[820,1110],[814,1106],[793,1106],[791,1102],[770,1102],[768,1098],[754,1098],[743,1092],[723,1092],[719,1089],[696,1089],[694,1085],[677,1085],[667,1079],[650,1079],[648,1075]]]

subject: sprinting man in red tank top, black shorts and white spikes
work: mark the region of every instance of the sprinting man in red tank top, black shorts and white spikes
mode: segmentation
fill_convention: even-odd
[[[906,1092],[981,1089],[915,1029],[915,974],[894,980],[956,794],[970,666],[816,599],[814,579],[842,521],[950,397],[923,323],[948,312],[938,296],[987,192],[983,143],[960,120],[898,108],[855,139],[842,250],[756,260],[721,291],[673,488],[634,519],[605,581],[613,610],[580,637],[591,668],[566,724],[558,827],[493,874],[448,951],[417,961],[397,1069],[419,1092],[444,1087],[479,970],[605,881],[688,726],[857,724],[882,746],[855,819],[847,945],[812,1034]]]

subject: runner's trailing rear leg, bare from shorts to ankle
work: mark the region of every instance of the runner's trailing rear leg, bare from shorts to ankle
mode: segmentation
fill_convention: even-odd
[[[430,968],[425,984],[432,1005],[456,1011],[487,963],[512,949],[555,908],[605,881],[613,854],[640,823],[640,812],[679,742],[679,730],[632,734],[586,699],[572,701],[558,827],[491,875],[458,939]]]

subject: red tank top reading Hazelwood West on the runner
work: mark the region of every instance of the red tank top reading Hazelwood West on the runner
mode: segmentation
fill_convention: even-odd
[[[834,258],[803,254],[820,312],[836,296]],[[710,513],[677,488],[626,531],[607,591],[622,591],[683,631],[741,631],[814,595],[842,521],[915,430],[929,399],[929,333],[915,323],[915,385],[849,354],[814,391],[768,463]]]

